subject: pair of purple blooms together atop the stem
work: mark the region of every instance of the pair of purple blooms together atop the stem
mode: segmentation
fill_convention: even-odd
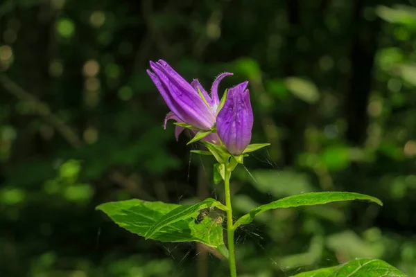
[[[218,84],[232,73],[220,74],[214,80],[209,94],[198,80],[189,84],[163,60],[150,62],[150,69],[148,75],[171,109],[164,127],[169,119],[179,123],[175,129],[176,139],[185,127],[189,127],[196,134],[202,132],[204,135],[201,137],[205,141],[217,145],[222,143],[233,155],[243,153],[250,143],[253,125],[248,82],[229,89],[220,101]]]

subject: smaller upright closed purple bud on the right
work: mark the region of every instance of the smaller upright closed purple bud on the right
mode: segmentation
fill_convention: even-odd
[[[217,116],[216,129],[227,150],[242,154],[251,141],[253,112],[250,104],[248,82],[228,90],[227,100]]]

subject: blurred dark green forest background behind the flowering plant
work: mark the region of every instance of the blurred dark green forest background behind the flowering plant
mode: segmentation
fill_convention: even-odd
[[[236,216],[308,191],[362,202],[276,210],[236,234],[240,276],[381,258],[416,276],[415,0],[1,0],[0,276],[227,276],[194,243],[119,228],[103,202],[223,201],[210,157],[162,124],[163,58],[220,91],[250,81]]]

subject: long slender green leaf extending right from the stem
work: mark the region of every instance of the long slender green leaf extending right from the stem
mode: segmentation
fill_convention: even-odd
[[[259,213],[274,209],[274,208],[292,208],[298,206],[311,206],[327,204],[330,202],[351,201],[351,200],[367,200],[383,206],[383,203],[376,197],[362,195],[360,193],[344,193],[344,192],[322,192],[322,193],[304,193],[300,195],[292,195],[271,202],[266,205],[253,208],[250,213],[243,215],[234,224],[235,228],[241,224],[248,224],[252,222],[254,217]]]

